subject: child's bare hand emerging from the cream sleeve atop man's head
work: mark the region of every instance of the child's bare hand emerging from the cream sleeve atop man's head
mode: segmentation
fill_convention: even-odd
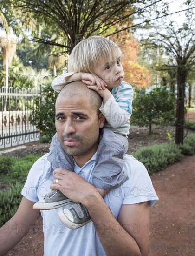
[[[100,77],[92,75],[90,73],[80,73],[81,81],[87,85],[97,86],[99,90],[105,89],[107,84]]]

